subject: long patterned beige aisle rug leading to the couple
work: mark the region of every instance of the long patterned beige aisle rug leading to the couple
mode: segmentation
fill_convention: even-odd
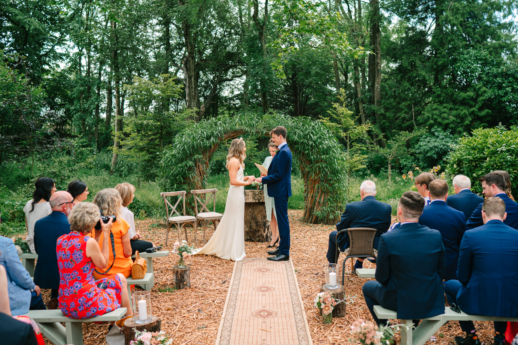
[[[216,345],[312,345],[292,261],[236,261]]]

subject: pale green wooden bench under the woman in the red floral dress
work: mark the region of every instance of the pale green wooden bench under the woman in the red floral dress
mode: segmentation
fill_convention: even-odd
[[[56,345],[83,345],[83,322],[117,321],[124,317],[126,308],[118,308],[96,318],[70,319],[61,310],[31,310],[25,315],[33,319],[41,333]],[[65,323],[65,326],[61,324]]]

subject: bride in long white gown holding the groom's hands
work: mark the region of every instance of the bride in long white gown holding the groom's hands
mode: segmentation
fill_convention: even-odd
[[[243,177],[243,160],[247,157],[243,138],[234,139],[230,144],[226,168],[230,178],[225,213],[209,242],[196,254],[215,255],[225,260],[240,261],[244,258],[244,186],[251,184],[255,177]]]

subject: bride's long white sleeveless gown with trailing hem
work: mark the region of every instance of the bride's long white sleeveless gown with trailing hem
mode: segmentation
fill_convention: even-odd
[[[243,168],[239,168],[237,181],[243,181]],[[215,255],[225,260],[240,261],[244,258],[244,186],[230,185],[225,213],[218,228],[205,247],[196,254]]]

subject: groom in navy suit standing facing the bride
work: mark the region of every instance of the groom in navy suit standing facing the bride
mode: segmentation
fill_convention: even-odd
[[[277,145],[277,153],[268,167],[268,175],[255,181],[268,185],[268,196],[274,198],[275,213],[279,226],[279,248],[269,251],[275,255],[268,260],[290,260],[290,222],[288,221],[288,198],[291,197],[291,151],[286,144],[286,127],[277,126],[270,131],[271,141]]]

